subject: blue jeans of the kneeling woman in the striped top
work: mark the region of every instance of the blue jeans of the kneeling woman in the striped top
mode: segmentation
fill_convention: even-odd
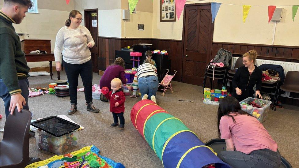
[[[149,77],[140,77],[138,79],[138,88],[140,90],[141,96],[147,94],[148,98],[152,95],[156,96],[156,93],[158,91],[158,77],[157,76],[149,76]]]

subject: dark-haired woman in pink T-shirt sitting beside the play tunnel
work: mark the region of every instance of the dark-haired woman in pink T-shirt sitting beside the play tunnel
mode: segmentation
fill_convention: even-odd
[[[233,167],[279,167],[277,143],[263,125],[241,110],[238,100],[228,96],[218,107],[218,135],[225,139],[226,151],[218,157]]]

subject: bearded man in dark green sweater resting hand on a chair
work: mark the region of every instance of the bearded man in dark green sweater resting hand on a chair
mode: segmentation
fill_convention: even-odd
[[[0,11],[0,96],[4,101],[6,118],[9,112],[13,114],[15,107],[19,112],[21,108],[29,110],[27,77],[30,68],[13,27],[13,23],[21,23],[29,7],[32,7],[30,0],[4,0]]]

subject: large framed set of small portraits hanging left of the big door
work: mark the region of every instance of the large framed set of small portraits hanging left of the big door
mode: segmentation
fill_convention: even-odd
[[[176,0],[160,1],[160,22],[176,21]],[[138,27],[139,28],[139,27]]]

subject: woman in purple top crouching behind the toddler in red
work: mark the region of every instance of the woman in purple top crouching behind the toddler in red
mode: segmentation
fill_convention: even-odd
[[[125,78],[125,62],[123,58],[116,58],[114,63],[109,65],[103,76],[100,79],[100,88],[106,86],[111,91],[111,80],[114,78],[119,78],[123,84],[127,84],[127,79]]]

